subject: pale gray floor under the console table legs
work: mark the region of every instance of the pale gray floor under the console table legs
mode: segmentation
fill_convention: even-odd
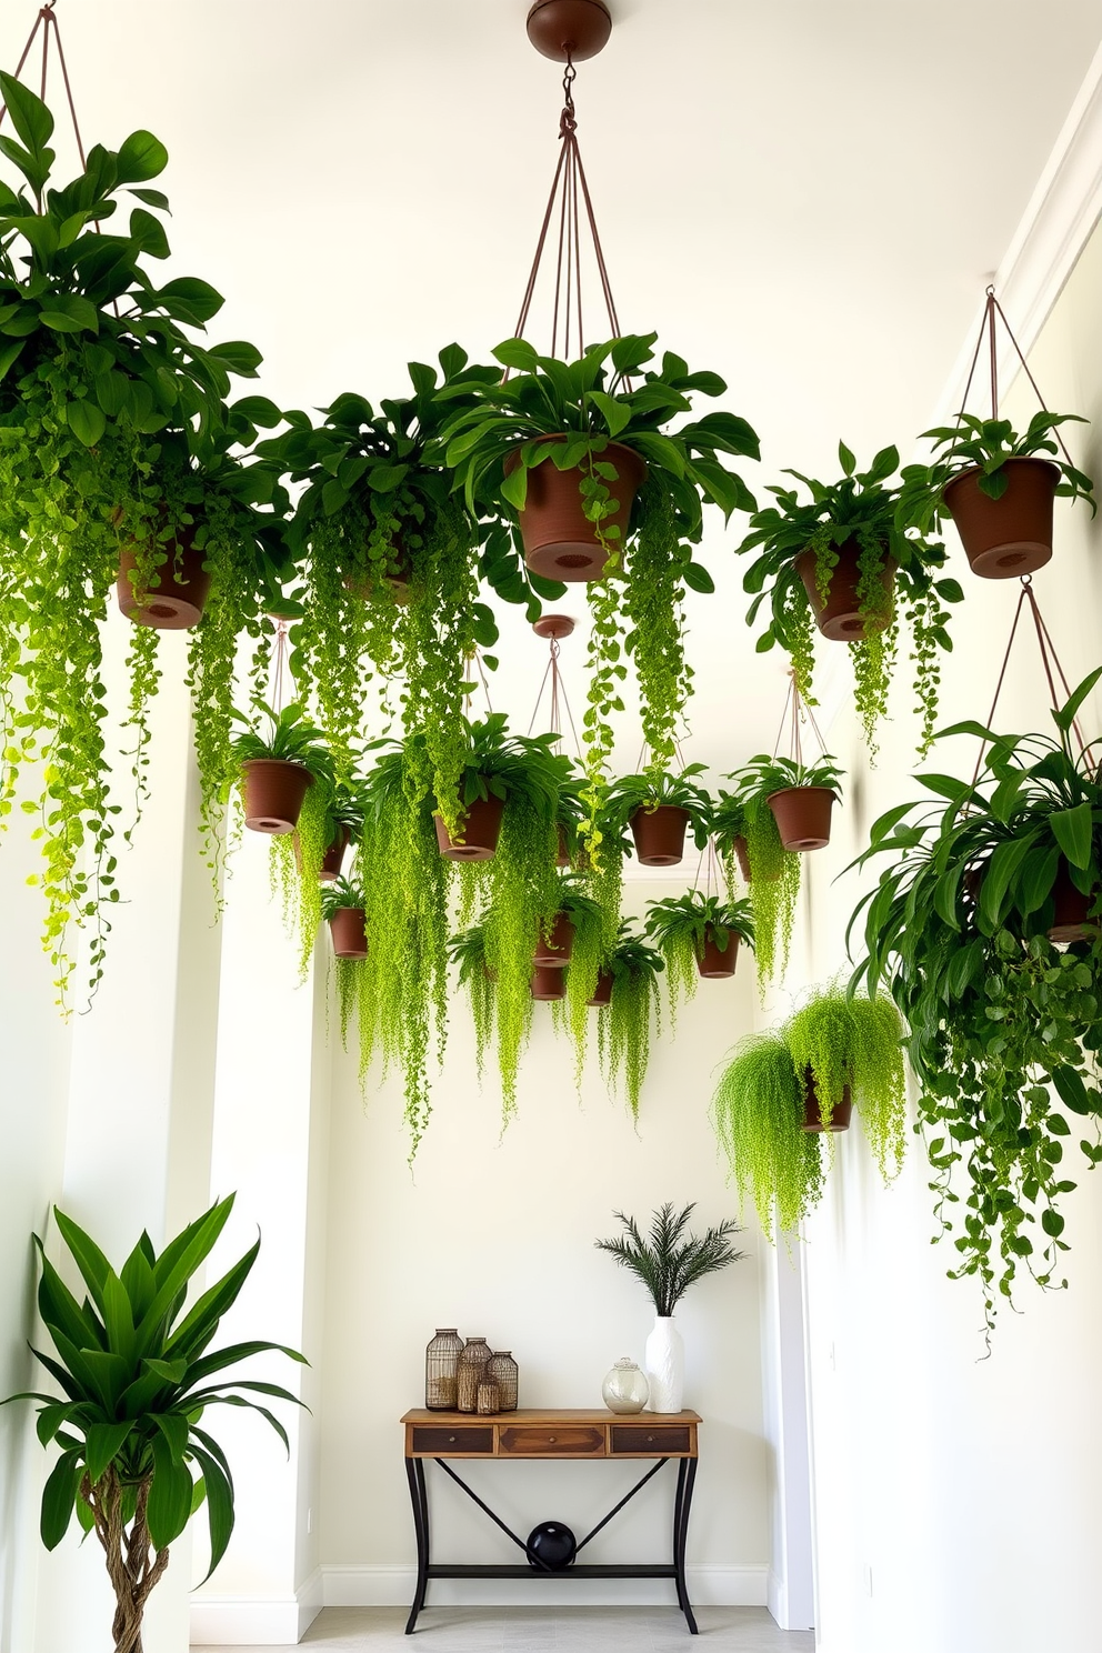
[[[327,1607],[306,1632],[304,1648],[370,1653],[691,1653],[684,1618],[674,1607],[430,1607],[416,1640],[403,1635],[401,1607]],[[712,1653],[813,1653],[811,1632],[778,1630],[763,1607],[699,1607],[701,1641]],[[236,1653],[192,1648],[192,1653]],[[294,1653],[266,1648],[264,1653]]]

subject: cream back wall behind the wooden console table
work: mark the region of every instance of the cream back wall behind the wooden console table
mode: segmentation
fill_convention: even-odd
[[[629,899],[669,881],[631,884]],[[499,1132],[499,1091],[473,1071],[469,1018],[456,1007],[436,1111],[406,1170],[398,1088],[362,1104],[352,1058],[334,1076],[324,1342],[322,1555],[327,1600],[408,1602],[413,1524],[400,1415],[421,1405],[423,1351],[436,1326],[512,1349],[520,1405],[600,1405],[605,1372],[639,1359],[653,1322],[641,1286],[595,1250],[613,1208],[648,1217],[697,1200],[697,1220],[734,1210],[707,1122],[712,1068],[753,1017],[748,959],[734,982],[701,982],[677,1036],[654,1046],[638,1131],[608,1099],[595,1051],[578,1099],[572,1055],[537,1005],[519,1117]],[[595,1012],[596,1015],[596,1012]],[[686,1405],[704,1417],[691,1557],[701,1600],[765,1600],[767,1453],[762,1440],[758,1274],[752,1256],[702,1281],[677,1314]],[[626,1465],[471,1465],[471,1483],[525,1536],[542,1519],[578,1536],[631,1486]],[[430,1466],[438,1559],[509,1559],[509,1546]],[[672,1474],[601,1534],[593,1560],[667,1552]],[[448,1598],[430,1587],[430,1603]],[[580,1590],[593,1590],[583,1585]],[[504,1592],[512,1592],[507,1595]],[[464,1584],[463,1600],[515,1600],[517,1587]],[[646,1593],[644,1593],[646,1592]],[[593,1597],[595,1598],[595,1597]],[[610,1587],[601,1598],[671,1600],[667,1585]],[[527,1593],[524,1600],[532,1600]]]

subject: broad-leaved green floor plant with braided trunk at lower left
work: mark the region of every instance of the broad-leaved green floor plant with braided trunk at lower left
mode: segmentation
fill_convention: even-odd
[[[210,1347],[249,1276],[259,1240],[188,1304],[231,1207],[233,1195],[220,1200],[160,1255],[144,1233],[117,1273],[55,1207],[84,1284],[83,1303],[35,1235],[38,1308],[55,1352],[33,1354],[61,1393],[8,1395],[3,1405],[38,1402],[38,1438],[59,1448],[41,1499],[43,1542],[56,1549],[74,1514],[86,1536],[96,1534],[116,1597],[116,1653],[140,1653],[145,1603],[169,1565],[169,1546],[202,1504],[210,1529],[207,1577],[226,1552],[235,1491],[226,1455],[211,1435],[213,1408],[251,1407],[287,1446],[283,1423],[251,1397],[302,1405],[281,1385],[235,1370],[266,1352],[304,1364],[296,1349],[256,1339]]]

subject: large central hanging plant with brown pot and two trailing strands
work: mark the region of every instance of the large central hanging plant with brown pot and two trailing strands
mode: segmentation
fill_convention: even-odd
[[[702,506],[719,506],[725,519],[753,509],[725,463],[758,458],[747,422],[724,412],[682,420],[694,393],[722,395],[724,380],[691,374],[669,352],[648,369],[653,344],[654,334],[628,336],[567,364],[511,339],[494,350],[509,377],[479,387],[476,405],[456,412],[443,431],[468,507],[515,527],[529,569],[588,582],[587,818],[611,750],[625,653],[634,663],[654,764],[663,769],[676,757],[689,698],[682,598],[686,587],[712,590],[692,555]]]

